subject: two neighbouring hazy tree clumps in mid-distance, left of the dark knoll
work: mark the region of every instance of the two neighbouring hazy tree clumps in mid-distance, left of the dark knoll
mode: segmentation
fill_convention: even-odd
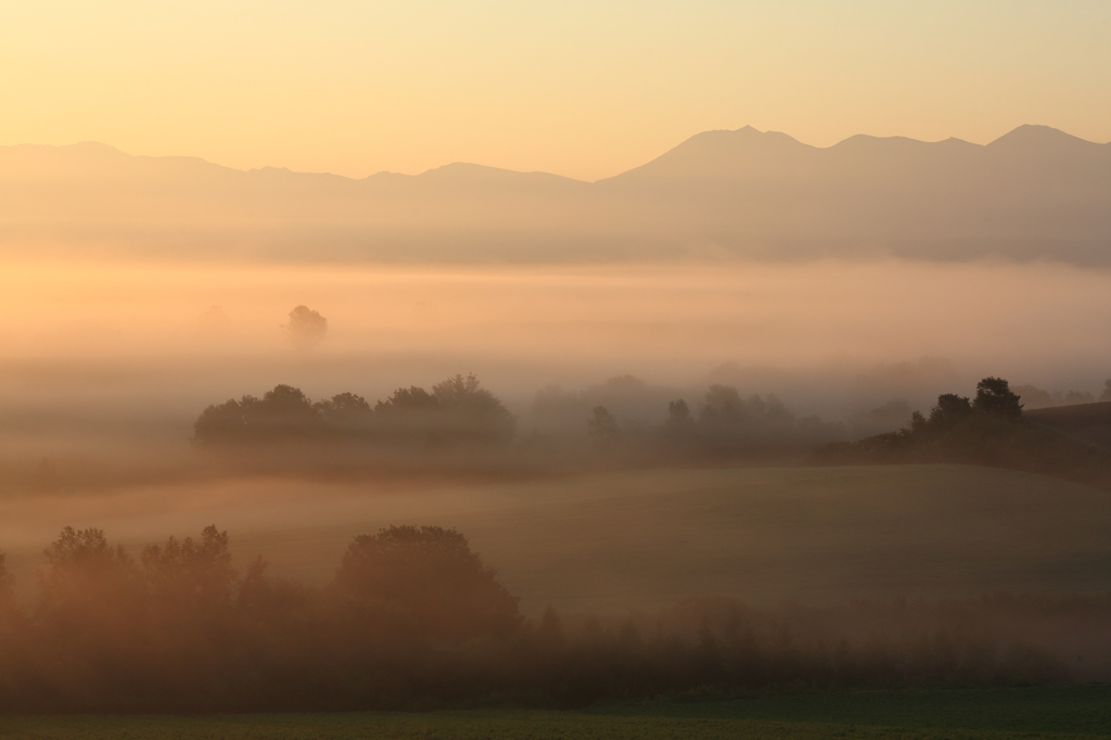
[[[585,418],[579,417],[578,433],[563,434],[572,444],[580,439],[585,442],[581,452],[591,453],[595,461],[609,458],[632,463],[801,451],[844,434],[839,424],[795,417],[773,394],[742,398],[735,388],[720,384],[709,388],[697,412],[683,399],[668,402],[667,411],[667,418],[653,424],[618,419],[607,407],[595,406]],[[484,449],[494,464],[504,462],[497,456],[504,457],[506,446],[516,441],[542,460],[546,450],[538,450],[536,440],[543,433],[533,430],[522,439],[517,428],[517,418],[473,374],[457,374],[430,391],[399,388],[373,406],[351,392],[313,401],[298,388],[277,386],[261,398],[243,396],[209,406],[193,423],[192,441],[200,449],[237,454],[284,449],[318,457],[383,447]]]

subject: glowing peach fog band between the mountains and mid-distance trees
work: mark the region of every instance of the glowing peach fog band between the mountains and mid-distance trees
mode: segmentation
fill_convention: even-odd
[[[774,392],[797,413],[831,419],[898,394],[968,392],[984,374],[1098,394],[1111,372],[1109,288],[1111,271],[898,261],[8,263],[0,402],[31,427],[56,413],[76,427],[191,421],[209,402],[279,382],[376,399],[469,371],[518,413],[541,388],[627,373],[679,393],[711,380]],[[311,351],[281,331],[299,304],[329,320]]]

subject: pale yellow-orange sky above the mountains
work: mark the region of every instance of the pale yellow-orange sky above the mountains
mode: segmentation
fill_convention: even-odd
[[[710,129],[1111,140],[1111,2],[4,0],[0,144],[594,180]]]

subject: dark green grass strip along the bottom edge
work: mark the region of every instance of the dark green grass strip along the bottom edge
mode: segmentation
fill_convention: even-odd
[[[1111,687],[817,693],[591,711],[0,717],[11,740],[1111,738]]]

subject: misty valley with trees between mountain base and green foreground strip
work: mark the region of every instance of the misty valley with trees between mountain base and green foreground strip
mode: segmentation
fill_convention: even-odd
[[[910,269],[827,274],[875,292]],[[809,270],[12,283],[41,313],[0,363],[0,703],[568,709],[1111,678],[1111,384],[1075,372],[1089,331],[1007,298],[1042,272],[940,268],[929,288],[982,277],[1015,310],[907,338],[909,313],[862,309],[823,348],[803,341],[827,300]],[[69,308],[89,290],[117,303]],[[999,359],[1004,327],[1055,356]]]

